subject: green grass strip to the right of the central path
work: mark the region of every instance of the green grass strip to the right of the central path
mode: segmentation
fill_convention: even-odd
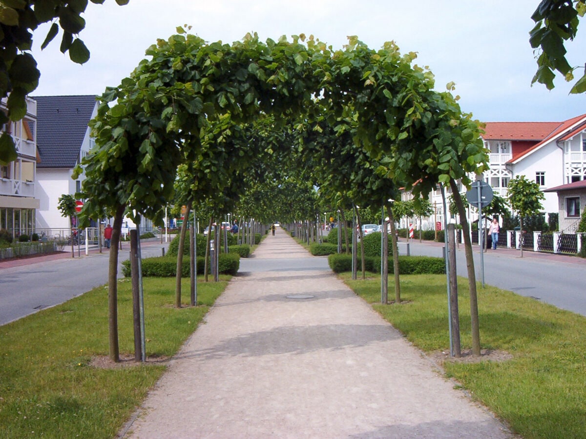
[[[380,276],[339,276],[418,348],[449,351],[445,275],[401,276],[400,306],[380,304]],[[458,279],[458,293],[462,349],[469,349],[468,280]],[[445,361],[445,374],[524,438],[586,437],[586,318],[480,284],[478,307],[482,348],[513,358]]]

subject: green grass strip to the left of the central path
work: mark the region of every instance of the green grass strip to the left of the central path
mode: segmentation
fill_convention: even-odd
[[[175,279],[145,278],[147,356],[172,356],[226,288],[197,285],[197,307],[175,308]],[[24,294],[24,293],[23,293]],[[0,327],[0,437],[115,437],[165,371],[154,362],[94,368],[108,355],[108,291],[98,287]],[[134,357],[130,279],[118,283],[120,353]]]

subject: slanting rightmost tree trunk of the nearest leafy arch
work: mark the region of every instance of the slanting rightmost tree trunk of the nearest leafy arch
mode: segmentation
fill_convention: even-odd
[[[452,189],[452,196],[458,213],[460,215],[460,224],[462,224],[462,233],[464,234],[464,251],[466,253],[466,270],[468,272],[468,287],[470,290],[470,319],[472,327],[472,355],[480,356],[480,330],[478,322],[478,295],[476,294],[476,273],[474,271],[474,256],[472,253],[472,241],[470,239],[470,229],[466,219],[466,210],[462,197],[458,191],[458,184],[454,179],[449,180],[449,186]]]

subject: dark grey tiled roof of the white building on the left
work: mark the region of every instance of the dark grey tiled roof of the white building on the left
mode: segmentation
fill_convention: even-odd
[[[96,105],[95,95],[36,96],[38,168],[73,168]]]

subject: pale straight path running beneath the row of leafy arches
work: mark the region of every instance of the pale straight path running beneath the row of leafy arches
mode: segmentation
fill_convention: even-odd
[[[234,277],[149,394],[132,438],[506,438],[284,231]],[[295,299],[288,296],[314,296]]]

